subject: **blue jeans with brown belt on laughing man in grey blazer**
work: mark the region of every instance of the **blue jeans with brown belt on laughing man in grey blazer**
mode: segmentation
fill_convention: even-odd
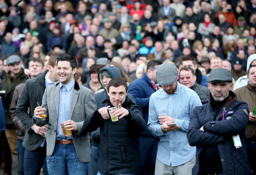
[[[46,157],[49,175],[87,175],[89,163],[78,159],[74,144],[55,144],[52,156]],[[66,172],[67,167],[67,172]]]

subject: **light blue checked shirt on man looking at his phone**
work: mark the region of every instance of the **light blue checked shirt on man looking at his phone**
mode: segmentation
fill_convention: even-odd
[[[198,95],[191,89],[178,83],[174,94],[168,95],[163,89],[150,97],[148,130],[152,135],[159,136],[157,158],[166,165],[178,166],[195,156],[196,147],[187,141],[186,131],[192,110],[202,105]],[[167,116],[174,118],[180,128],[176,131],[163,133],[158,120],[160,109],[165,109]]]

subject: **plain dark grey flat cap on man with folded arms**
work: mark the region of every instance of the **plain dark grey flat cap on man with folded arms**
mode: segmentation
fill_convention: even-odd
[[[207,78],[209,83],[212,82],[232,82],[232,74],[230,70],[224,68],[214,69]]]

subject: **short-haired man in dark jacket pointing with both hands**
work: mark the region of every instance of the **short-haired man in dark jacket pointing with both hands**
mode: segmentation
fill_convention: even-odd
[[[126,97],[126,82],[115,77],[108,83],[106,99],[100,108],[88,116],[83,124],[86,132],[100,127],[100,146],[97,175],[135,175],[139,173],[139,132],[145,131],[146,123],[140,106]],[[108,108],[118,120],[113,122]]]

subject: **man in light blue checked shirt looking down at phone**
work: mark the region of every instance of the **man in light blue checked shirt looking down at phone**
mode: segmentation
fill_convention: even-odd
[[[202,103],[193,90],[178,83],[174,63],[159,65],[156,78],[163,89],[151,95],[148,117],[148,130],[160,138],[155,175],[191,175],[195,147],[189,145],[186,131],[192,110]]]

